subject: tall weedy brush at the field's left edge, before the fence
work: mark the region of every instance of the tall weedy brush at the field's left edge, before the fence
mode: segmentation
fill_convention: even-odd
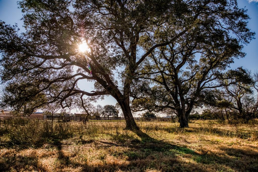
[[[38,147],[54,139],[72,137],[69,123],[52,123],[25,118],[0,121],[0,147]]]

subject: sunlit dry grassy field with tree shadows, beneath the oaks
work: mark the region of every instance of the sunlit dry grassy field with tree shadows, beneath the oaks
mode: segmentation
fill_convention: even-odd
[[[0,123],[0,171],[257,171],[258,125],[193,121]]]

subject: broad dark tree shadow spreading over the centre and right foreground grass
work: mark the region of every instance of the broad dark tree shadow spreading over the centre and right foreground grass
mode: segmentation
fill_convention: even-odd
[[[127,147],[125,151],[110,153],[111,156],[126,157],[129,162],[126,166],[109,165],[92,167],[85,170],[116,169],[130,171],[145,171],[147,169],[161,171],[257,171],[258,152],[250,149],[240,149],[230,146],[220,146],[219,152],[202,149],[201,153],[156,140],[151,137],[141,139],[132,138],[128,142],[127,135],[113,135],[113,142],[97,141],[104,149],[113,147]],[[122,142],[126,140],[126,142]],[[256,147],[257,148],[257,147]]]

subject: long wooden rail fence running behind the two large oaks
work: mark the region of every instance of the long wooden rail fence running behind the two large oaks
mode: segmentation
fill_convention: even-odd
[[[177,120],[177,117],[173,118],[134,118],[136,122],[144,121],[144,122],[171,122]],[[47,116],[47,120],[54,121],[54,122],[70,122],[70,121],[91,121],[91,122],[125,122],[125,118],[118,117],[118,118],[86,118],[83,116]]]

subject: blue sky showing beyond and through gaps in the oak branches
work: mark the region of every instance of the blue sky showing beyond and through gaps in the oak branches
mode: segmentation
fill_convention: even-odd
[[[236,59],[235,63],[231,65],[232,69],[235,69],[239,66],[247,68],[252,72],[258,70],[258,0],[238,0],[238,6],[240,8],[248,9],[247,14],[251,18],[248,23],[248,28],[252,32],[255,32],[255,40],[252,40],[250,44],[244,45],[243,52],[246,53],[246,57],[242,59]],[[20,32],[23,32],[22,28],[23,22],[20,21],[22,18],[21,9],[17,8],[17,0],[0,0],[0,20],[6,22],[6,24],[14,25],[18,24],[18,27],[21,29]],[[79,83],[81,89],[86,91],[91,91],[93,84],[84,82]],[[116,100],[111,96],[105,98],[104,100],[98,101],[97,104],[106,105],[106,104],[116,104]]]

